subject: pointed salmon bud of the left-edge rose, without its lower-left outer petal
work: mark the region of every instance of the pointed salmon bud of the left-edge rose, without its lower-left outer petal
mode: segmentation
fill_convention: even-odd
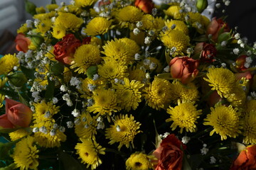
[[[6,101],[6,115],[7,119],[16,128],[26,128],[31,123],[32,111],[28,106],[18,101],[11,100],[9,98]]]

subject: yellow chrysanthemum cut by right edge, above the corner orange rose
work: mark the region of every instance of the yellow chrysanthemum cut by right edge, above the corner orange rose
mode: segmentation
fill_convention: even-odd
[[[250,111],[245,115],[245,119],[242,123],[242,135],[245,136],[243,142],[246,145],[255,145],[256,144],[256,110]]]

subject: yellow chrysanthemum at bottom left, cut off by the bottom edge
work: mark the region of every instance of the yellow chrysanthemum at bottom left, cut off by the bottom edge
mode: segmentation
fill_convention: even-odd
[[[28,136],[18,142],[14,148],[14,163],[21,170],[26,169],[37,169],[38,163],[38,152],[33,137]]]

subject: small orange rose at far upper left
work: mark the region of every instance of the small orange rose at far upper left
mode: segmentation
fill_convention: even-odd
[[[28,45],[30,45],[31,40],[29,38],[26,38],[25,35],[23,35],[23,33],[19,33],[16,36],[15,42],[16,42],[16,50],[27,52]]]

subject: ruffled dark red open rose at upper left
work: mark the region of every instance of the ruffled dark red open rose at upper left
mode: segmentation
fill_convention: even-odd
[[[54,45],[55,60],[63,62],[64,64],[70,64],[70,58],[73,58],[75,50],[82,45],[80,40],[75,38],[75,35],[68,34],[63,37],[63,40],[57,42]]]

